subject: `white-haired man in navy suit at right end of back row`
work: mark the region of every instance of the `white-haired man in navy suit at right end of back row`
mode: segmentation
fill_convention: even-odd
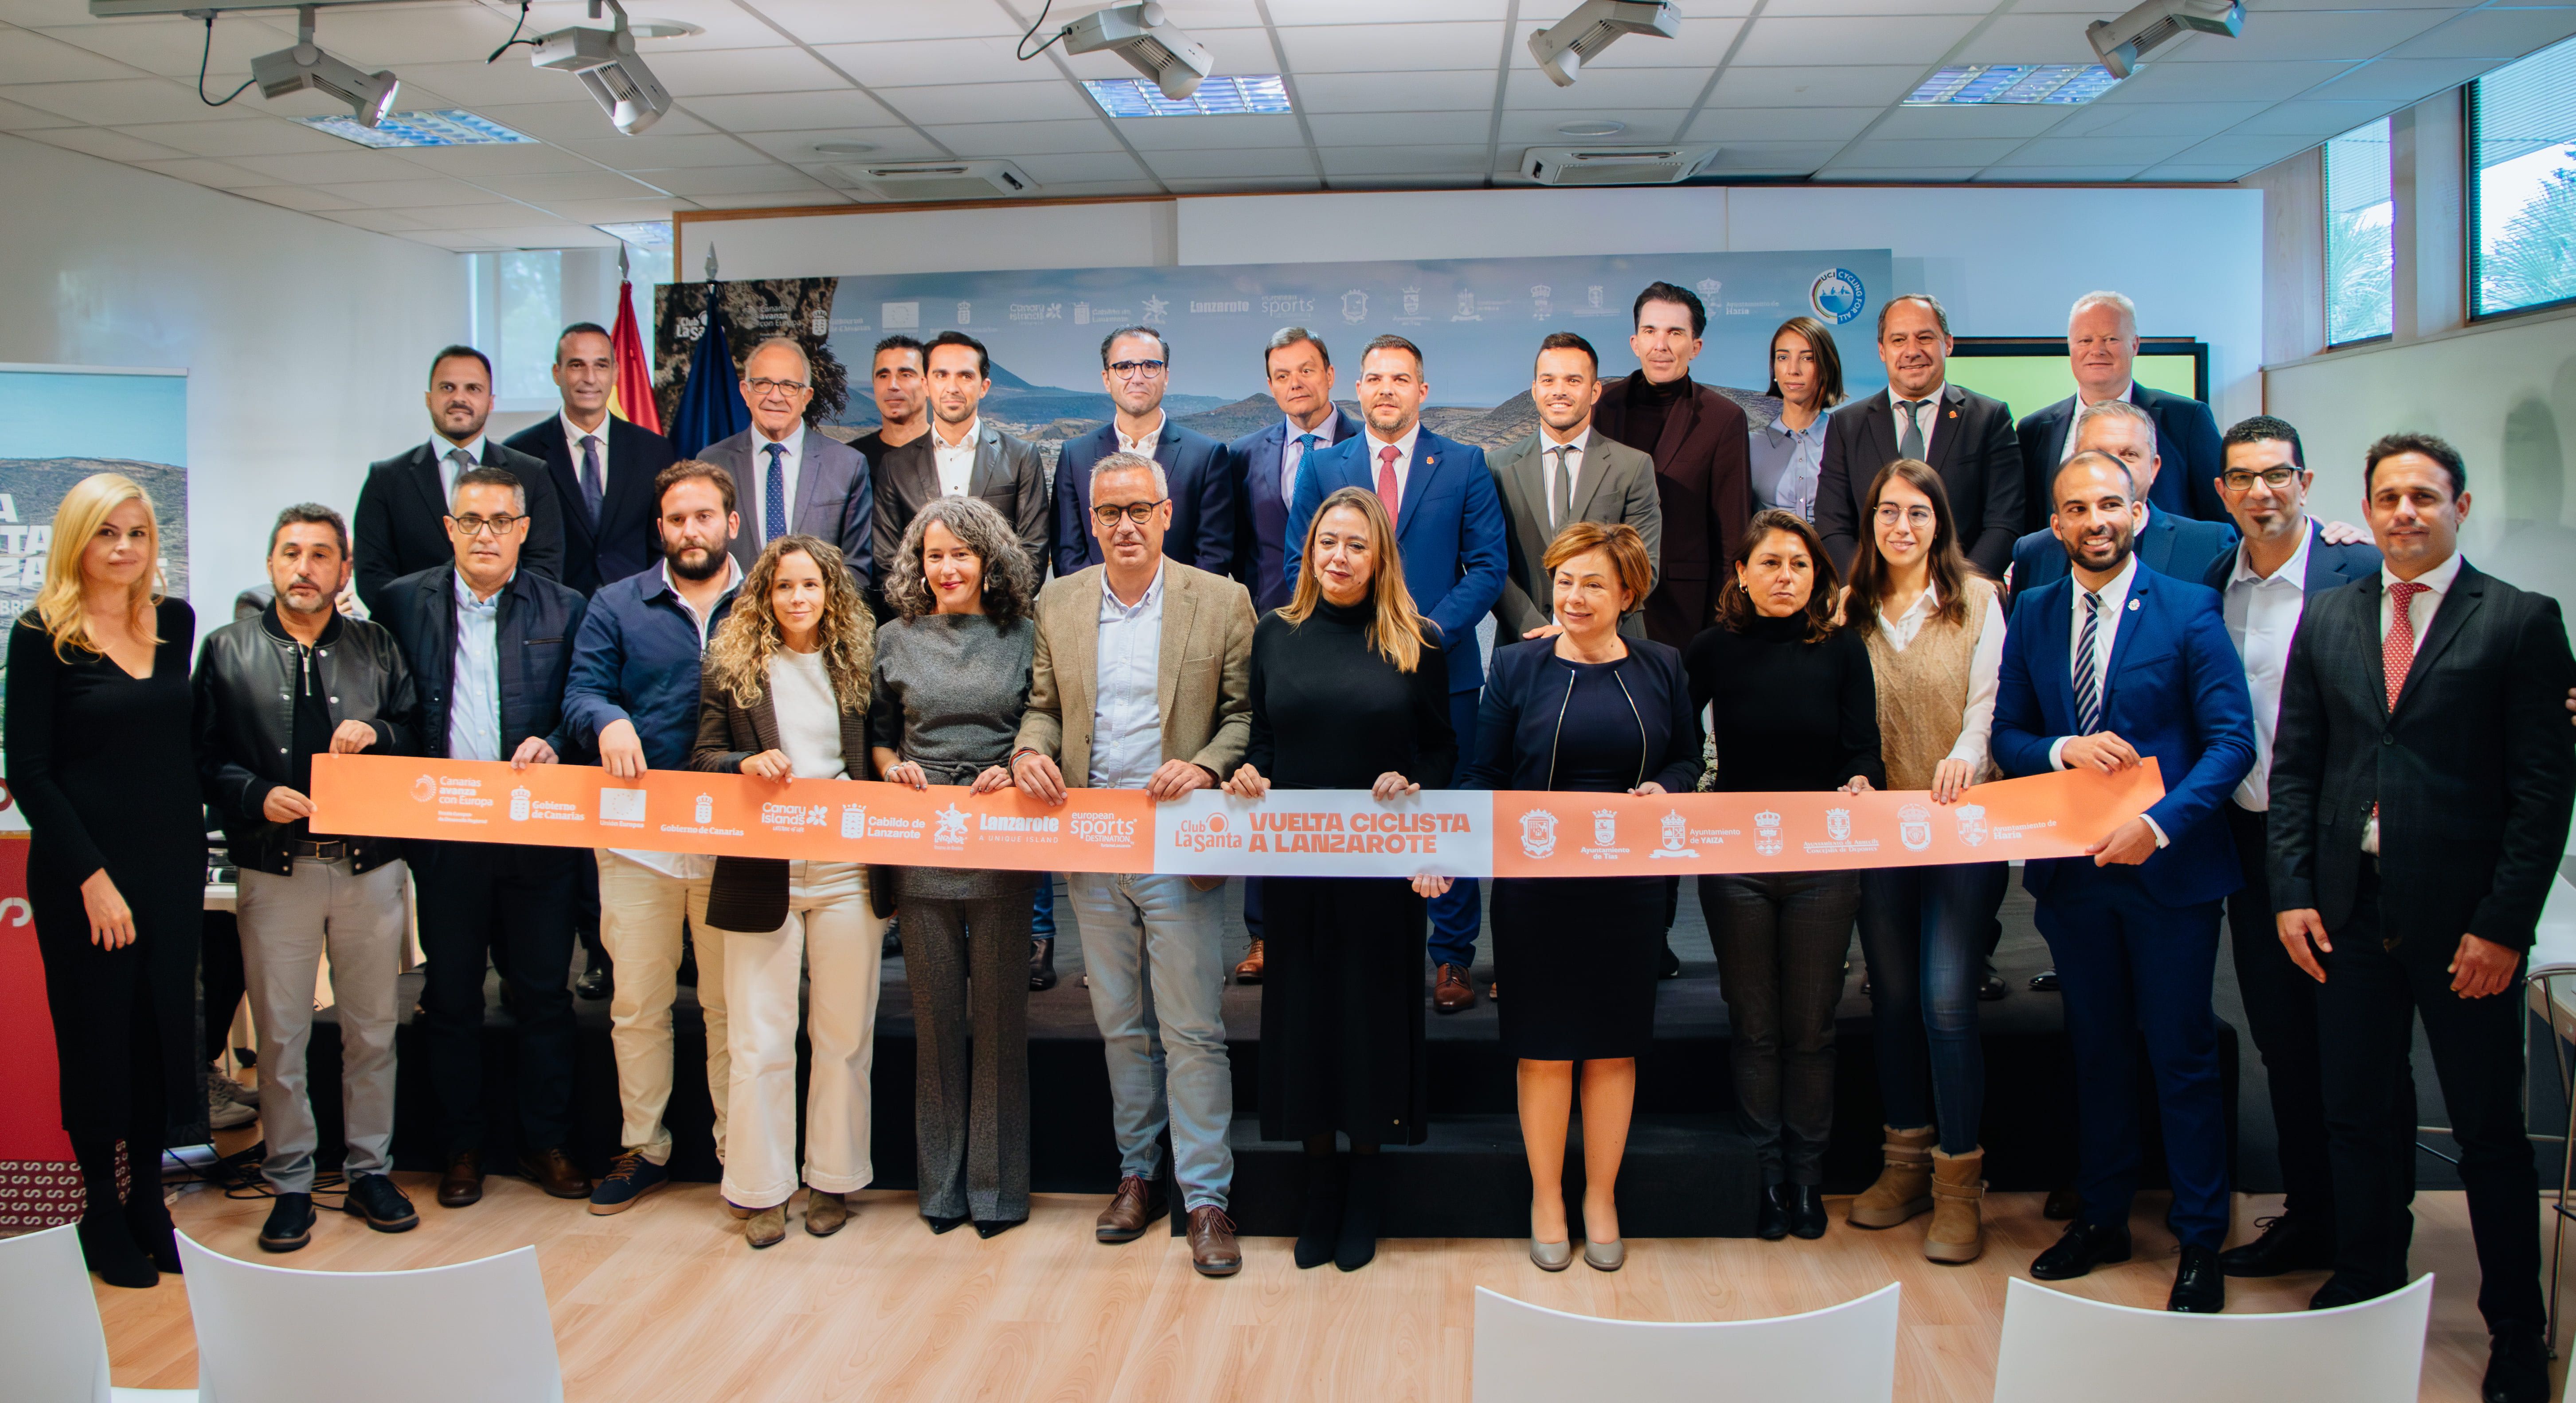
[[[2226,502],[2210,487],[2223,471],[2210,407],[2130,376],[2138,363],[2138,304],[2120,293],[2079,296],[2066,314],[2066,360],[2076,373],[2076,391],[2022,420],[2022,530],[2048,528],[2048,481],[2081,448],[2071,432],[2076,417],[2092,417],[2105,404],[2133,404],[2156,422],[2156,456],[2174,471],[2156,479],[2156,487],[2138,487],[2146,502],[2179,517],[2228,520]]]

